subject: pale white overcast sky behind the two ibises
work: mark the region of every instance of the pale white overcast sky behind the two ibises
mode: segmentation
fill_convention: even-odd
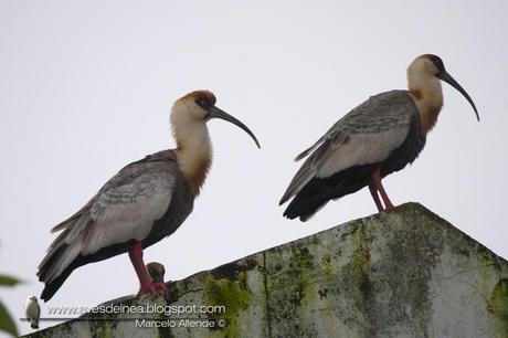
[[[169,108],[193,89],[214,92],[262,149],[209,124],[214,162],[194,211],[145,253],[168,279],[375,213],[367,189],[307,223],[283,219],[277,203],[293,158],[370,95],[405,88],[423,53],[442,56],[481,122],[443,84],[425,149],[384,187],[508,257],[507,13],[506,1],[0,1],[0,272],[25,281],[0,298],[22,316],[43,288],[50,229],[128,162],[173,147]],[[137,289],[120,255],[75,271],[43,315]]]

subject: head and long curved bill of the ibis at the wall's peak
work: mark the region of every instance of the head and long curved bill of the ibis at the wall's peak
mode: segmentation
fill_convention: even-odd
[[[423,54],[416,57],[408,67],[408,84],[410,89],[419,89],[423,85],[438,85],[442,80],[457,89],[469,102],[475,110],[476,118],[479,120],[476,105],[466,91],[446,72],[443,60],[433,54]],[[441,86],[440,86],[441,87]],[[441,89],[440,89],[441,91]]]

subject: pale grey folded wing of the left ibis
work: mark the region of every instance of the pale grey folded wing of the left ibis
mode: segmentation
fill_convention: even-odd
[[[52,263],[45,282],[59,276],[80,254],[148,236],[154,221],[165,214],[171,202],[176,180],[181,177],[179,170],[176,155],[167,150],[130,163],[115,175],[85,207],[52,230],[65,229],[39,267],[59,247],[66,250]]]

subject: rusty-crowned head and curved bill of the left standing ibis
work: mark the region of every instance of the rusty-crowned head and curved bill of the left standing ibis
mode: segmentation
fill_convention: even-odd
[[[171,113],[173,130],[178,131],[176,130],[177,128],[186,128],[189,125],[204,125],[212,118],[220,118],[242,128],[254,139],[256,146],[260,148],[260,142],[251,129],[235,117],[216,107],[215,102],[215,95],[209,91],[195,91],[179,98],[174,103]]]

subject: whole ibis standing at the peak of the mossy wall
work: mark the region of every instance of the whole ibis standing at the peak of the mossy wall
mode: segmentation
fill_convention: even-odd
[[[282,205],[293,198],[284,215],[305,222],[330,200],[364,187],[379,211],[393,208],[381,180],[412,163],[425,146],[443,106],[440,80],[464,95],[479,120],[473,99],[443,61],[420,55],[408,67],[408,91],[371,96],[296,157],[307,159],[281,199]]]

